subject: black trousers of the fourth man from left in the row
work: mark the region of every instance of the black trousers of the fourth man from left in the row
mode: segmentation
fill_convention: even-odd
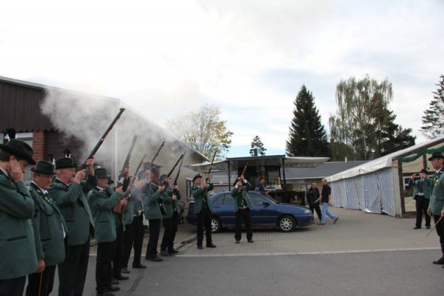
[[[99,242],[97,244],[96,258],[96,291],[97,293],[105,292],[105,289],[111,286],[112,266],[116,250],[116,241]]]

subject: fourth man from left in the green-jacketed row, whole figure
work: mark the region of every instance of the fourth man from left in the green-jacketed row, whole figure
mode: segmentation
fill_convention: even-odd
[[[122,187],[112,190],[108,186],[108,174],[104,168],[95,170],[97,186],[88,193],[88,203],[94,217],[97,244],[96,292],[99,296],[112,296],[113,291],[120,290],[112,286],[112,259],[116,249],[116,215],[112,209],[116,204],[126,205]]]

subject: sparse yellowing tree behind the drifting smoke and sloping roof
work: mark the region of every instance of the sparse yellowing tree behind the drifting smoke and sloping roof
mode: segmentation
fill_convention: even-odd
[[[205,104],[196,111],[179,115],[167,121],[167,129],[191,148],[211,159],[221,159],[231,146],[232,132],[219,118],[221,109]]]

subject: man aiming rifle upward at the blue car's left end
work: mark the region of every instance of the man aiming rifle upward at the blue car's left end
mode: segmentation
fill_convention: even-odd
[[[202,176],[196,174],[193,178],[194,187],[191,195],[194,197],[194,211],[197,215],[197,248],[203,249],[203,227],[205,227],[205,237],[207,247],[216,247],[211,237],[211,210],[212,204],[208,191],[213,190],[211,175],[208,174],[208,183],[202,181]]]

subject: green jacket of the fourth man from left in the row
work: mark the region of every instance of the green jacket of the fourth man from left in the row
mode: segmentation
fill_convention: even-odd
[[[110,196],[105,192],[111,190],[112,188],[108,186],[104,191],[94,188],[88,193],[88,203],[91,207],[96,229],[94,238],[98,242],[113,242],[117,239],[116,214],[112,211],[112,208],[123,199],[123,195],[119,192],[113,192]]]

